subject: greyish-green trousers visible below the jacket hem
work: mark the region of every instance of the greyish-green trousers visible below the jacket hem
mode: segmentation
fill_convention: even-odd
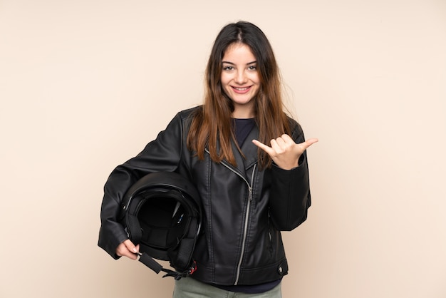
[[[204,284],[192,277],[182,278],[175,281],[175,289],[172,298],[281,298],[281,284],[268,292],[259,294],[234,293],[224,289],[213,287],[210,284]]]

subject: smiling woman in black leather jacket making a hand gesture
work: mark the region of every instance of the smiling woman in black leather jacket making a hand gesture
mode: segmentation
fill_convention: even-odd
[[[207,63],[204,104],[178,113],[108,178],[98,245],[135,260],[138,246],[117,220],[120,200],[143,175],[175,171],[199,190],[204,233],[197,272],[175,281],[174,297],[281,297],[288,265],[280,231],[306,220],[306,148],[316,142],[284,113],[264,33],[244,21],[224,26]]]

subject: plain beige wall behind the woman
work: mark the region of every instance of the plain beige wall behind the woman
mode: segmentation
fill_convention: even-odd
[[[102,187],[201,103],[239,19],[320,139],[284,297],[446,297],[444,0],[0,0],[0,297],[170,297],[96,246]]]

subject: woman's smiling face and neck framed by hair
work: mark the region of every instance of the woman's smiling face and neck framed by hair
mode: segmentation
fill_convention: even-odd
[[[234,104],[234,118],[253,118],[254,101],[260,88],[256,57],[244,43],[232,43],[222,59],[222,88]]]

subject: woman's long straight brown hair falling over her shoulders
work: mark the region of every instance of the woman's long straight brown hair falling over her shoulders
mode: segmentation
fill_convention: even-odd
[[[245,21],[224,26],[215,39],[207,62],[204,104],[193,115],[187,135],[187,147],[195,151],[202,160],[207,146],[212,160],[219,163],[225,159],[235,165],[231,145],[231,140],[234,140],[231,118],[234,106],[224,93],[220,81],[222,58],[232,43],[249,46],[256,57],[261,87],[252,100],[255,102],[254,112],[256,124],[259,126],[259,141],[269,145],[271,139],[278,138],[283,133],[290,133],[290,128],[282,103],[279,67],[265,34],[259,27]],[[257,155],[261,168],[271,166],[271,158],[264,150],[259,149]]]

